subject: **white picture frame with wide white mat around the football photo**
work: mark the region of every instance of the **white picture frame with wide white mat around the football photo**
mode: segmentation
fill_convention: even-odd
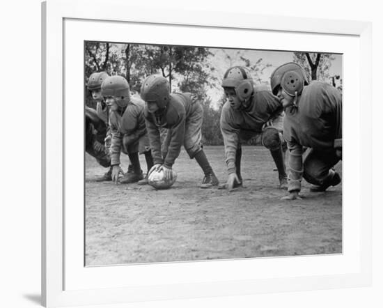
[[[370,151],[372,148],[370,137],[371,24],[297,17],[161,10],[161,8],[130,6],[125,1],[118,0],[91,1],[92,6],[89,6],[89,3],[90,1],[86,0],[49,0],[42,3],[42,304],[46,307],[114,304],[370,285],[372,272],[370,229],[372,208],[370,188],[372,186],[370,159],[370,153],[372,153]],[[350,200],[343,212],[345,252],[341,256],[305,256],[295,257],[295,259],[167,263],[135,267],[84,268],[82,266],[81,268],[78,261],[78,258],[81,259],[84,254],[84,251],[81,251],[83,248],[81,241],[78,245],[72,245],[72,243],[75,242],[78,234],[76,230],[81,229],[84,220],[81,215],[76,214],[77,212],[72,212],[73,206],[71,208],[65,203],[65,200],[68,201],[68,195],[66,195],[68,190],[65,190],[65,185],[68,183],[65,182],[65,175],[70,174],[66,169],[68,164],[65,164],[65,159],[68,160],[68,155],[70,156],[68,147],[65,147],[65,144],[68,144],[65,142],[65,136],[71,134],[70,128],[65,125],[67,123],[65,121],[68,121],[68,113],[65,113],[65,109],[68,108],[65,105],[65,88],[70,88],[70,84],[65,83],[67,81],[65,72],[68,75],[72,69],[67,67],[68,63],[65,63],[65,59],[68,60],[68,55],[65,58],[65,52],[68,52],[68,49],[65,48],[71,44],[66,37],[71,27],[77,29],[79,36],[77,40],[83,38],[80,25],[68,26],[65,24],[68,21],[93,23],[92,26],[104,23],[102,28],[105,29],[109,26],[122,29],[128,23],[134,26],[161,25],[175,30],[183,27],[182,31],[203,29],[205,32],[208,30],[222,31],[223,34],[226,31],[231,35],[235,31],[239,34],[238,36],[251,33],[253,36],[263,37],[281,33],[280,35],[288,38],[295,36],[299,39],[299,36],[307,36],[308,42],[310,43],[311,40],[312,45],[315,45],[313,39],[310,39],[312,36],[325,42],[327,40],[327,45],[329,45],[331,37],[336,37],[337,40],[344,39],[344,46],[339,48],[340,50],[349,48],[345,52],[343,90],[344,101],[349,105],[345,107],[344,111],[344,152],[346,157],[343,162],[345,169],[343,207]],[[99,33],[99,35],[101,34]],[[118,34],[116,35],[118,36]],[[75,34],[71,38],[74,36]],[[212,39],[208,34],[205,36],[207,41]],[[90,34],[86,39],[94,38]],[[118,41],[111,35],[107,37],[107,34],[101,38]],[[283,37],[281,36],[281,38]],[[164,42],[161,41],[161,37],[156,37],[157,41],[153,41],[154,39],[149,38],[150,43]],[[176,43],[180,43],[180,38],[177,39]],[[199,39],[201,42],[203,36]],[[350,45],[345,47],[348,41],[350,41]],[[296,40],[296,42],[298,41]],[[173,41],[168,39],[166,43],[173,43]],[[238,45],[237,42],[232,44],[235,47],[252,46]],[[281,40],[280,44],[290,50],[294,49],[290,40],[286,40],[286,42]],[[265,45],[264,43],[262,46],[260,43],[260,47],[266,47]],[[267,45],[265,49],[269,49],[270,46],[272,45]],[[357,48],[353,48],[355,46]],[[304,47],[296,49],[302,50],[302,48]],[[336,45],[334,43],[331,47],[324,46],[323,48],[333,48],[331,50],[334,52]],[[71,59],[75,60],[75,57]],[[359,68],[358,74],[356,76],[354,74],[353,79],[350,79],[350,65],[348,64],[351,61],[358,63],[357,68]],[[78,71],[79,75],[83,74],[82,66],[78,68]],[[352,95],[350,88],[357,95]],[[81,101],[82,98],[79,100]],[[359,108],[362,102],[363,109]],[[82,123],[81,116],[81,113],[77,118],[72,115],[73,118],[70,118],[70,121]],[[353,119],[352,123],[347,121],[348,118]],[[357,128],[357,132],[350,133],[351,125],[353,128]],[[354,150],[355,153],[351,158],[347,158],[347,153],[350,153],[352,148],[357,150]],[[347,169],[347,165],[350,164],[357,166],[354,168],[357,176],[348,172],[350,169]],[[358,178],[358,180],[355,180],[354,183],[347,182],[347,176]],[[347,191],[350,191],[348,197]],[[75,201],[71,202],[72,205],[73,203]],[[74,210],[76,211],[78,208],[74,208]],[[68,228],[68,224],[70,224],[70,228]],[[72,226],[73,232],[70,231]],[[347,244],[347,239],[350,240],[350,245]],[[352,243],[352,240],[357,243]],[[308,268],[308,272],[310,272],[310,269],[317,265],[316,262],[319,260],[317,258],[320,258],[320,265],[325,266],[327,272],[319,270],[319,272],[305,275],[304,272],[299,273],[296,270],[297,268]],[[343,264],[344,267],[339,264]],[[251,268],[259,269],[263,265],[274,268],[275,272],[262,276],[258,270],[256,272],[251,270]],[[286,271],[286,268],[292,270],[289,272]],[[129,276],[132,279],[126,279],[126,271],[130,272]],[[210,276],[202,277],[206,272]],[[176,273],[182,273],[182,277]],[[95,277],[102,277],[105,283],[99,284]],[[113,283],[111,283],[112,280]]]

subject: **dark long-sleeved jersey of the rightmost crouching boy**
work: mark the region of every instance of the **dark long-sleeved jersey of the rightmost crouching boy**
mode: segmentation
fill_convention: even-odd
[[[288,142],[288,191],[299,191],[303,174],[302,148],[334,152],[342,143],[342,99],[336,88],[324,82],[305,86],[297,106],[286,109],[283,137]]]

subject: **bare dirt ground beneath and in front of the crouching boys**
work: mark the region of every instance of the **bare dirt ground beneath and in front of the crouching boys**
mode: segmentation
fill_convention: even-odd
[[[226,182],[223,146],[205,152]],[[341,185],[314,193],[302,181],[303,200],[281,201],[287,192],[266,148],[243,148],[244,187],[230,194],[200,189],[203,173],[183,149],[173,169],[169,190],[96,182],[106,169],[86,154],[86,265],[342,252]]]

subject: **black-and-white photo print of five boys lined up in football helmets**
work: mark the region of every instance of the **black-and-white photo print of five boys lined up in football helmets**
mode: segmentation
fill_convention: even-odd
[[[342,254],[342,54],[84,42],[84,265]]]

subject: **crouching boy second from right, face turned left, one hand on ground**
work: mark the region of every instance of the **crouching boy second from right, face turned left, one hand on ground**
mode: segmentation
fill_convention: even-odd
[[[254,86],[249,71],[241,66],[229,68],[222,81],[226,103],[221,113],[228,191],[242,185],[241,143],[255,139],[269,149],[279,173],[279,185],[287,188],[282,151],[283,108],[267,86]]]

